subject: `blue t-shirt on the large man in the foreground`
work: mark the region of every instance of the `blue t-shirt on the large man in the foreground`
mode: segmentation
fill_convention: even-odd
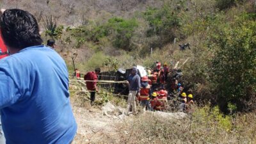
[[[44,45],[0,60],[0,108],[6,144],[69,144],[76,134],[67,66]]]

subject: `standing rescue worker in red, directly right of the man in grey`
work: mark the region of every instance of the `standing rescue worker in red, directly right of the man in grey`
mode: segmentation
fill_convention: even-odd
[[[140,104],[143,106],[143,111],[150,109],[149,104],[149,95],[150,95],[150,84],[148,84],[148,77],[144,76],[141,78],[141,89],[140,89]]]

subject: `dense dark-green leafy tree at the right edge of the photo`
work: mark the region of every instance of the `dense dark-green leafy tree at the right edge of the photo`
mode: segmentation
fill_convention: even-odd
[[[237,20],[235,26],[224,28],[215,37],[212,79],[222,108],[227,109],[228,102],[239,110],[255,107],[255,103],[251,104],[256,92],[255,29],[254,20]]]

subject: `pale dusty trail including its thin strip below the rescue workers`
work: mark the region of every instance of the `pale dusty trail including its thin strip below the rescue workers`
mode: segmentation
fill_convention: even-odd
[[[70,100],[78,127],[77,136],[72,144],[120,143],[122,136],[119,136],[120,127],[118,130],[118,126],[137,118],[137,116],[123,115],[124,109],[113,106],[111,103],[107,103],[103,107],[90,106],[89,98],[84,93],[76,93]],[[103,111],[107,115],[103,115]],[[164,119],[186,117],[185,113],[141,112],[140,115],[156,115],[162,116]]]

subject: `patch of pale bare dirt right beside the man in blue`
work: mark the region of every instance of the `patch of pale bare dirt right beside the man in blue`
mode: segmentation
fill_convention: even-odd
[[[116,143],[115,124],[122,120],[116,116],[103,115],[99,106],[90,106],[88,101],[81,106],[74,99],[71,102],[78,128],[72,144],[109,143],[104,141],[106,138],[113,139],[113,143]]]

